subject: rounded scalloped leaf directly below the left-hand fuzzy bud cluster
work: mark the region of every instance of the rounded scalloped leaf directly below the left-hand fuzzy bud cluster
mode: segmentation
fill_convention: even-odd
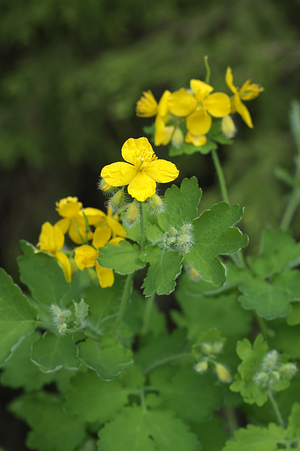
[[[80,366],[77,353],[77,346],[70,335],[54,335],[51,332],[45,332],[33,343],[31,360],[44,373],[57,371],[60,368],[76,370]]]

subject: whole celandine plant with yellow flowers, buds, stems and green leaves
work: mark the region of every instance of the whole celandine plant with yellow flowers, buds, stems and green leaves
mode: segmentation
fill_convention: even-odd
[[[144,127],[150,141],[128,138],[121,161],[101,169],[105,211],[65,197],[37,244],[21,241],[28,291],[0,270],[1,384],[22,389],[7,408],[28,424],[29,449],[300,446],[300,244],[289,231],[300,107],[291,109],[295,174],[276,172],[291,188],[286,210],[263,231],[259,256],[244,257],[243,207],[230,204],[217,147],[233,143],[236,115],[253,128],[245,103],[263,88],[238,88],[227,67],[227,92],[215,91],[204,62],[204,81],[137,101],[138,116],[155,118]],[[177,186],[180,168],[151,143],[170,159],[211,153],[221,200],[202,210],[196,176]],[[160,195],[157,183],[169,182]],[[160,295],[173,299],[167,317]]]

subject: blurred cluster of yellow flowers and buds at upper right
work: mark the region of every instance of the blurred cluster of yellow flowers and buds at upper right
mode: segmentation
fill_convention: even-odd
[[[240,89],[236,88],[230,67],[227,68],[225,82],[233,93],[231,97],[222,92],[212,92],[212,86],[195,79],[190,80],[189,89],[181,88],[172,93],[164,91],[158,103],[150,90],[145,91],[136,104],[136,115],[155,116],[155,146],[171,142],[173,147],[179,148],[185,141],[201,147],[207,142],[213,121],[219,119],[223,135],[232,138],[235,125],[230,114],[240,114],[248,127],[252,128],[251,117],[243,101],[254,99],[263,88],[250,83],[250,80]]]

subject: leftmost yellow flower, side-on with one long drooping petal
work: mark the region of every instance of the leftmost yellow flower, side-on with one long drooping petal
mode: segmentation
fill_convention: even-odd
[[[51,225],[50,222],[44,222],[41,226],[41,232],[38,240],[37,246],[39,249],[56,257],[62,268],[66,281],[70,282],[70,262],[63,252],[59,252],[64,244],[64,236],[58,225]]]

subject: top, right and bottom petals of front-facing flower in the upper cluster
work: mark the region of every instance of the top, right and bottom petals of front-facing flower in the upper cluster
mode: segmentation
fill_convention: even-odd
[[[198,102],[195,111],[186,118],[186,127],[194,136],[206,135],[211,127],[211,116],[224,117],[230,113],[227,94],[213,91],[213,87],[200,80],[190,80],[190,89]]]

